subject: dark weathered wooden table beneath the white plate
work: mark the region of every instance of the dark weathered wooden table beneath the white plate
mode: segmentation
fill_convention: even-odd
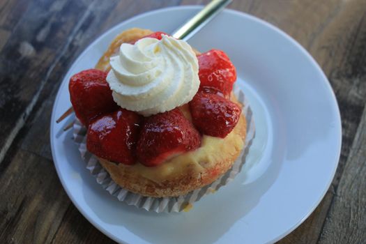
[[[113,243],[70,202],[52,162],[49,119],[82,50],[148,10],[208,1],[0,1],[0,243]],[[298,40],[342,114],[340,165],[321,204],[280,243],[366,243],[366,1],[236,0]],[[311,181],[311,176],[309,176]]]

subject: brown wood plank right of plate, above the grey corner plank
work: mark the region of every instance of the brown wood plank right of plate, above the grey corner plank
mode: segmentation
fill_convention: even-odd
[[[365,14],[366,1],[343,3],[334,20],[310,47],[328,73],[342,114],[343,145],[336,183],[342,174],[366,102]]]

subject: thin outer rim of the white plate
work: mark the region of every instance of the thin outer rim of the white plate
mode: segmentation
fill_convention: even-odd
[[[51,116],[50,133],[49,133],[51,151],[52,151],[52,160],[54,161],[54,166],[56,168],[56,173],[59,177],[59,180],[61,181],[61,185],[63,186],[63,189],[66,191],[66,194],[68,195],[70,200],[73,202],[73,204],[77,208],[77,210],[80,213],[82,213],[84,218],[86,218],[86,220],[88,220],[91,224],[93,224],[94,227],[96,227],[99,231],[101,231],[103,234],[105,234],[106,236],[108,236],[112,240],[116,241],[117,243],[126,243],[126,242],[121,240],[121,238],[119,238],[118,236],[115,236],[114,234],[109,232],[106,228],[102,227],[102,225],[95,222],[93,220],[93,218],[91,218],[89,216],[89,214],[86,213],[86,211],[83,210],[83,208],[78,204],[78,201],[76,201],[76,199],[71,194],[70,190],[66,187],[66,183],[63,181],[63,178],[61,177],[61,169],[59,169],[58,164],[56,163],[56,157],[54,155],[54,150],[55,150],[54,149],[55,148],[55,146],[54,146],[55,142],[54,141],[55,141],[55,139],[54,139],[54,126],[53,125],[54,125],[54,121],[56,121],[55,109],[56,109],[56,105],[58,104],[59,99],[61,97],[61,90],[62,90],[61,88],[63,88],[63,86],[65,86],[66,83],[67,83],[67,82],[63,82],[63,80],[65,79],[65,77],[70,72],[70,68],[73,67],[75,65],[75,63],[77,63],[80,59],[82,59],[82,56],[84,56],[86,54],[86,52],[88,52],[89,49],[91,49],[93,47],[93,45],[96,45],[96,43],[98,43],[100,41],[100,39],[102,39],[105,35],[107,35],[107,33],[112,32],[115,29],[118,29],[121,24],[128,24],[129,22],[133,22],[136,19],[139,19],[140,17],[146,17],[148,15],[155,15],[157,13],[164,13],[164,12],[169,11],[169,10],[177,10],[177,9],[199,10],[203,7],[204,6],[188,5],[188,6],[171,6],[171,7],[167,7],[167,8],[159,8],[159,9],[156,9],[156,10],[151,10],[151,11],[148,11],[148,12],[140,13],[140,14],[135,15],[135,16],[127,19],[127,20],[119,22],[118,24],[116,24],[116,25],[112,26],[111,28],[107,29],[105,32],[101,33],[100,36],[98,36],[98,38],[96,38],[91,43],[89,43],[89,45],[87,45],[87,47],[77,56],[77,59],[75,59],[75,61],[73,61],[73,63],[70,66],[68,66],[68,70],[66,71],[65,75],[63,75],[62,82],[59,85],[59,89],[57,91],[56,98],[54,99],[54,105],[52,106],[52,116]],[[322,79],[325,79],[326,88],[327,88],[326,90],[330,92],[330,97],[331,97],[331,100],[333,101],[333,107],[335,106],[334,107],[335,112],[336,112],[335,115],[337,116],[337,121],[336,121],[337,124],[335,125],[335,127],[338,127],[338,135],[339,135],[338,142],[339,143],[338,143],[338,148],[337,148],[337,157],[336,157],[337,160],[334,164],[333,172],[331,172],[332,177],[330,178],[330,181],[327,183],[324,192],[321,194],[321,197],[319,197],[319,200],[317,201],[316,204],[314,204],[314,206],[312,206],[310,211],[307,211],[307,214],[300,221],[298,221],[296,224],[294,224],[293,227],[287,229],[287,231],[284,231],[282,234],[278,235],[276,238],[273,238],[273,240],[268,241],[268,243],[274,243],[274,242],[279,241],[280,239],[284,238],[288,234],[290,234],[294,229],[296,229],[300,224],[302,224],[314,212],[314,210],[317,208],[317,206],[319,206],[320,202],[323,200],[324,196],[326,195],[326,192],[328,191],[328,189],[330,188],[331,183],[333,182],[335,172],[337,171],[337,167],[338,167],[339,162],[340,162],[340,154],[341,154],[341,148],[342,148],[342,118],[341,118],[341,114],[340,114],[340,108],[339,108],[335,93],[333,91],[333,88],[330,85],[330,82],[329,82],[328,78],[323,73],[323,70],[319,66],[319,63],[317,63],[317,61],[312,57],[312,55],[309,52],[307,52],[305,47],[300,45],[300,43],[298,43],[298,41],[296,41],[294,38],[289,36],[289,34],[282,31],[280,28],[278,28],[274,24],[266,22],[266,20],[261,20],[259,17],[256,17],[254,15],[250,15],[248,13],[244,13],[244,12],[241,12],[239,10],[233,10],[233,9],[227,9],[227,8],[224,9],[224,12],[231,13],[231,14],[234,14],[234,15],[239,15],[241,17],[245,17],[245,18],[250,19],[254,22],[259,22],[259,24],[264,24],[269,29],[273,29],[277,33],[280,33],[284,38],[289,40],[293,45],[296,45],[296,47],[303,54],[305,54],[307,59],[309,59],[309,61],[311,61],[311,63],[314,65],[314,68],[317,68],[319,74],[321,74]]]

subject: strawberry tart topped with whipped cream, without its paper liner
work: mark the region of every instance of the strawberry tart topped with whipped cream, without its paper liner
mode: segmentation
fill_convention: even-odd
[[[117,184],[176,197],[215,181],[241,153],[246,122],[235,81],[224,52],[134,28],[116,36],[95,69],[73,75],[69,91],[88,150]]]

